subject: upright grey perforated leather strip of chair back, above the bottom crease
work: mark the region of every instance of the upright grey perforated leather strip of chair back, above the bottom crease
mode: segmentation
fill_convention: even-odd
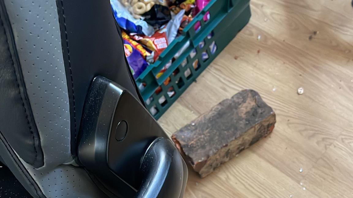
[[[55,0],[5,0],[44,166],[72,160],[70,111]]]

